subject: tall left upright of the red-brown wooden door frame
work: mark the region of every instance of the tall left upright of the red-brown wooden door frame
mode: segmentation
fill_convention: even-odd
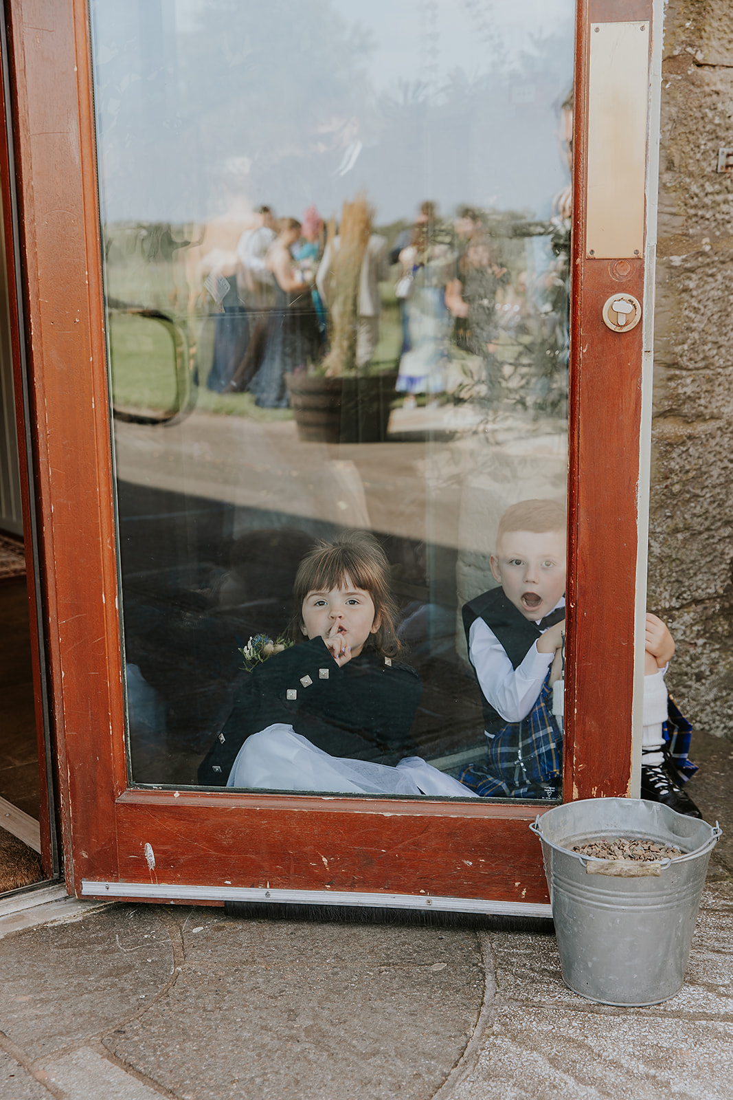
[[[122,692],[85,4],[11,0],[15,162],[66,875],[116,872]],[[77,45],[80,48],[77,48]]]

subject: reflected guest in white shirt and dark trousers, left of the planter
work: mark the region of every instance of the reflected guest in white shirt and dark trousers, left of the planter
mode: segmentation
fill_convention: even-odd
[[[240,237],[236,274],[240,299],[248,315],[248,341],[241,348],[234,373],[224,393],[241,393],[254,377],[265,353],[269,310],[275,305],[275,279],[265,258],[276,233],[273,211],[257,208],[254,223]]]

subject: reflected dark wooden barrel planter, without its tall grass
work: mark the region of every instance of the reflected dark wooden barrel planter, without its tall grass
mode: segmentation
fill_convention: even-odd
[[[287,374],[285,381],[301,440],[378,443],[387,438],[396,372],[341,378]]]

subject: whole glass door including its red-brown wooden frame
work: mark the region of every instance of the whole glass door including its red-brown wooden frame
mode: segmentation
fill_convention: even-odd
[[[71,232],[91,272],[86,302],[79,256],[58,287],[84,444],[62,477],[86,541],[53,564],[82,607],[79,627],[58,618],[55,696],[77,892],[544,912],[527,824],[628,789],[633,666],[579,601],[613,556],[609,622],[633,638],[641,330],[610,343],[582,287],[643,298],[644,244],[642,226],[615,256],[602,218],[586,241],[589,32],[615,25],[592,14],[44,16],[79,74],[45,110],[76,100],[81,172],[48,188],[80,224],[35,232],[42,255]],[[40,66],[25,79],[33,133]],[[645,68],[644,117],[647,86]],[[45,179],[40,145],[25,165]],[[603,418],[622,437],[599,463]],[[598,492],[622,509],[600,559]],[[69,516],[51,530],[70,544]],[[610,736],[589,676],[606,652],[625,714]]]

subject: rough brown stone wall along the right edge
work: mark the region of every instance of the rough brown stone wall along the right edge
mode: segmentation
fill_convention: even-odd
[[[671,691],[733,739],[733,2],[670,0],[662,86],[648,607]]]

